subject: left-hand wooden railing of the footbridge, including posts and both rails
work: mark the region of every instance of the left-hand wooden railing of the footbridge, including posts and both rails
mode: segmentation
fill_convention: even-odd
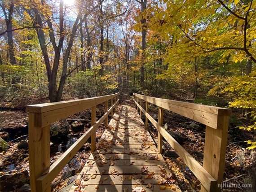
[[[50,192],[53,179],[74,157],[75,153],[91,137],[91,151],[96,148],[96,128],[106,120],[119,102],[119,93],[80,100],[68,100],[55,103],[26,106],[29,112],[29,168],[31,192]],[[111,107],[108,108],[108,101]],[[114,100],[114,101],[113,101]],[[96,105],[105,102],[105,114],[96,121]],[[92,109],[92,127],[88,129],[70,148],[50,165],[50,125],[70,115]]]

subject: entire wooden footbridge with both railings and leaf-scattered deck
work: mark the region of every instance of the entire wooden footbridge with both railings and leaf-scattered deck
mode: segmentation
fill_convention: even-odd
[[[140,104],[139,104],[140,101]],[[96,106],[105,102],[105,114],[96,121]],[[51,182],[91,138],[91,156],[71,191],[180,191],[168,184],[170,171],[162,152],[163,137],[201,182],[201,192],[221,191],[230,109],[166,100],[134,93],[137,109],[120,105],[119,93],[81,100],[27,106],[29,112],[29,161],[32,192],[51,191]],[[143,109],[143,103],[145,108]],[[149,113],[149,103],[159,107],[158,122]],[[108,107],[110,105],[110,108]],[[92,127],[50,165],[50,124],[92,109]],[[167,109],[206,125],[203,166],[162,127]],[[138,114],[137,112],[140,112]],[[107,117],[111,113],[108,124]],[[141,120],[142,113],[146,123]],[[105,120],[106,130],[96,143],[96,129]],[[158,130],[157,148],[147,131],[148,120]]]

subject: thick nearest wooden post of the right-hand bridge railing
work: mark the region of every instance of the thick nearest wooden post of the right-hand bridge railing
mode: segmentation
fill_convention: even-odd
[[[206,126],[203,168],[221,184],[225,167],[225,154],[228,137],[229,116],[219,116],[220,126],[217,129]],[[211,191],[220,192],[221,187],[212,186]],[[201,186],[201,192],[207,190]]]

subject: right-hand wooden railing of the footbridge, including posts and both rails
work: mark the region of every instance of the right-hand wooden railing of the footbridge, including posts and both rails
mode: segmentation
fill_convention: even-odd
[[[230,109],[181,102],[176,100],[160,99],[133,93],[137,111],[140,109],[148,120],[158,130],[158,151],[162,153],[163,137],[190,168],[201,182],[201,192],[218,192],[217,184],[222,182],[225,166],[225,153],[229,126]],[[140,100],[140,104],[139,104]],[[142,108],[142,100],[146,101],[146,110]],[[159,107],[158,122],[148,113],[149,103]],[[178,142],[163,128],[163,109],[178,113],[186,118],[193,119],[206,125],[203,166],[199,164]]]

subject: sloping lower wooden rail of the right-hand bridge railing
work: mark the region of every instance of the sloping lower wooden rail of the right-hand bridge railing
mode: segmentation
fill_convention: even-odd
[[[135,100],[134,102],[137,106],[139,106]],[[216,185],[216,179],[214,179],[212,175],[210,175],[207,170],[205,170],[203,166],[199,164],[199,162],[197,162],[171,135],[169,135],[168,132],[150,116],[149,113],[146,113],[144,109],[141,110],[148,117],[154,127],[158,129],[161,135],[163,135],[164,139],[167,140],[179,157],[181,157],[182,161],[184,161],[185,164],[190,168],[197,179],[202,183],[203,187],[206,188],[207,191],[210,191],[211,187]]]

